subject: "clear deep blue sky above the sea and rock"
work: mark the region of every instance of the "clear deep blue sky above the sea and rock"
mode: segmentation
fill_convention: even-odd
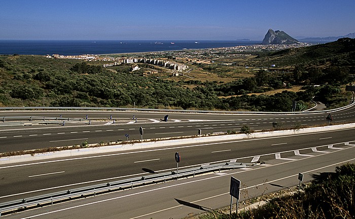
[[[0,40],[262,40],[355,32],[354,0],[1,0]]]

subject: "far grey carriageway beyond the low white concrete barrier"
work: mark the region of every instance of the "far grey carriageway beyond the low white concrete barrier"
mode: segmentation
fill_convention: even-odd
[[[332,113],[333,123],[355,121],[353,107]],[[169,115],[167,122],[162,121]],[[116,142],[140,139],[139,127],[144,129],[144,139],[236,131],[243,125],[252,130],[272,129],[277,122],[281,128],[294,125],[326,125],[327,112],[310,114],[213,114],[213,113],[159,113],[159,112],[117,112],[117,111],[3,111],[1,116],[48,116],[92,119],[85,123],[32,125],[21,127],[0,127],[0,153],[33,150],[49,147],[100,142]],[[137,122],[135,122],[135,119]],[[111,118],[111,119],[110,119]],[[113,123],[115,120],[115,123]]]

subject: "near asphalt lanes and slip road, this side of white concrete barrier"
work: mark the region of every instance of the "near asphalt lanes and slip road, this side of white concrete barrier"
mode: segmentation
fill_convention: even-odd
[[[84,186],[81,182],[88,180],[101,178],[105,181],[121,176],[173,170],[175,168],[173,155],[176,151],[182,156],[179,165],[181,168],[230,159],[250,162],[259,156],[258,160],[265,162],[251,168],[216,172],[4,216],[4,218],[182,218],[204,212],[203,209],[228,206],[230,176],[241,180],[241,200],[244,200],[265,191],[268,193],[281,187],[298,185],[298,172],[304,173],[304,181],[308,181],[322,172],[334,171],[335,166],[344,162],[353,163],[354,132],[354,129],[348,129],[216,144],[175,145],[167,149],[91,156],[79,160],[3,165],[0,169],[3,176],[1,183],[7,192],[2,190],[0,200],[32,196],[40,193],[30,192],[32,190],[68,184],[76,184],[70,187],[81,187]],[[346,142],[350,144],[346,145]],[[332,147],[329,147],[330,145]],[[298,151],[297,155],[295,151]],[[21,188],[18,187],[20,184],[16,185],[16,181],[20,181]],[[7,189],[12,187],[17,187],[20,191]],[[63,189],[64,187],[60,188]],[[29,193],[16,195],[26,190]],[[46,192],[53,190],[55,189]],[[10,196],[4,197],[6,195]]]

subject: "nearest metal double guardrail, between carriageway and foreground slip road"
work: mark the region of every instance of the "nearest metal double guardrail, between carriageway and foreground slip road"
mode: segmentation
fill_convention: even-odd
[[[50,205],[57,201],[65,201],[87,197],[95,196],[98,193],[105,193],[110,191],[117,191],[123,189],[132,189],[133,187],[144,186],[148,184],[165,182],[166,180],[173,180],[177,178],[183,178],[188,176],[195,176],[196,174],[221,171],[222,169],[235,169],[244,168],[246,166],[254,166],[256,163],[236,163],[236,162],[225,162],[218,164],[202,165],[200,167],[194,167],[184,170],[156,173],[147,176],[134,177],[128,179],[122,179],[119,181],[107,182],[93,186],[87,186],[77,189],[68,189],[65,191],[54,192],[50,194],[34,196],[29,198],[17,199],[9,202],[0,203],[0,216],[2,213],[11,213],[15,211],[25,210],[29,207],[42,207],[44,205]]]

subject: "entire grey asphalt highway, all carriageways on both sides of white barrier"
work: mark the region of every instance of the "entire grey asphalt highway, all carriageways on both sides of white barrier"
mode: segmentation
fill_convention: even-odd
[[[355,120],[353,107],[331,112],[333,123],[353,122]],[[166,114],[169,115],[169,119],[164,122],[162,119]],[[295,124],[324,125],[328,123],[326,118],[329,112],[214,114],[139,111],[4,111],[2,114],[2,116],[47,117],[59,117],[60,115],[65,118],[83,119],[87,115],[92,122],[90,125],[67,122],[65,125],[33,124],[24,127],[1,127],[0,153],[81,144],[83,141],[99,143],[125,140],[125,134],[129,134],[129,140],[140,139],[139,127],[144,129],[144,139],[153,139],[196,135],[198,129],[202,130],[202,134],[227,130],[239,131],[242,125],[247,125],[254,130],[265,130],[271,129],[274,122],[282,124],[284,128],[293,127]],[[172,171],[175,169],[174,153],[177,151],[182,156],[180,168],[231,160],[265,162],[264,165],[251,169],[181,179],[166,184],[46,207],[43,208],[46,211],[43,215],[44,211],[41,209],[16,214],[16,218],[22,216],[89,218],[93,215],[95,218],[180,218],[189,213],[202,212],[201,208],[194,208],[196,205],[211,208],[228,205],[230,175],[239,177],[244,183],[244,189],[249,188],[253,195],[257,195],[260,194],[260,189],[258,191],[254,186],[262,185],[265,181],[273,181],[289,187],[297,184],[295,174],[298,172],[304,171],[310,174],[332,171],[337,164],[346,161],[353,162],[354,133],[355,129],[350,128],[271,138],[171,145],[150,150],[41,162],[5,165],[0,161],[0,186],[2,188],[0,203],[123,178]],[[312,175],[306,176],[307,180],[311,178]],[[268,192],[280,189],[280,187],[270,185],[267,187]],[[116,204],[119,207],[113,207]],[[90,210],[92,207],[102,209],[104,213],[92,212]],[[13,216],[7,215],[6,217],[13,218]]]

